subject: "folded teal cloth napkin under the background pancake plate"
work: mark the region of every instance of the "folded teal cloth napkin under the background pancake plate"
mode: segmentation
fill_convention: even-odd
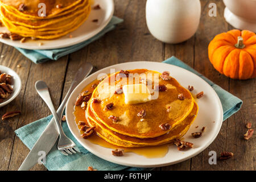
[[[76,44],[75,46],[69,46],[69,47],[60,48],[60,49],[49,49],[49,50],[29,50],[29,49],[22,49],[18,47],[15,47],[15,48],[18,49],[19,52],[21,52],[24,56],[26,56],[28,59],[30,59],[34,63],[44,63],[48,60],[57,60],[60,57],[63,57],[65,55],[68,55],[69,53],[78,51],[79,49],[87,46],[88,44],[94,42],[95,40],[100,39],[107,32],[112,31],[117,26],[117,24],[122,22],[123,22],[123,19],[113,16],[112,20],[110,20],[109,24],[104,28],[104,30],[102,30],[97,35],[93,36],[93,38],[90,38],[85,42]]]

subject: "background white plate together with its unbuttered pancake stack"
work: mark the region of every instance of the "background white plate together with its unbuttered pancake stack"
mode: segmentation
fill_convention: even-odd
[[[61,4],[67,3],[67,5],[63,5],[67,9],[64,7],[56,9],[56,5],[53,5],[52,1],[46,0],[43,2],[46,3],[48,15],[43,20],[36,15],[39,10],[39,0],[2,0],[2,2],[5,4],[2,4],[1,7],[1,19],[2,22],[5,22],[3,24],[9,27],[9,30],[28,37],[33,34],[39,38],[42,37],[38,40],[26,39],[24,43],[20,43],[18,40],[0,39],[2,43],[25,49],[57,49],[79,44],[103,30],[114,14],[113,0],[56,1]],[[20,14],[18,11],[20,3],[27,4],[28,8],[34,11],[32,13],[23,11]],[[94,10],[93,7],[97,5],[100,5],[100,9]],[[97,20],[97,22],[93,20]],[[5,26],[0,27],[0,32],[10,32]]]

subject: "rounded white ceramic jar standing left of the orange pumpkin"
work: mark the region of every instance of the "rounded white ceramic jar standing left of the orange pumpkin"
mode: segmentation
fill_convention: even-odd
[[[181,43],[199,27],[200,0],[147,0],[146,21],[151,34],[165,43]]]

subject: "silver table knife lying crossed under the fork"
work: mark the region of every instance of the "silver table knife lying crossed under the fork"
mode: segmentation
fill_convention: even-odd
[[[93,65],[90,63],[85,63],[79,68],[64,100],[61,102],[61,105],[57,110],[57,115],[59,117],[62,116],[65,105],[67,104],[68,98],[71,95],[73,89],[75,89],[76,86],[90,74],[90,72],[92,72],[92,69]],[[19,167],[18,171],[27,171],[28,169],[35,166],[35,164],[38,163],[38,159],[40,157],[38,155],[39,151],[44,151],[47,155],[48,152],[55,145],[58,137],[59,133],[55,125],[55,121],[52,118],[46,129],[44,129],[43,133],[34,144],[34,147],[32,147],[26,159],[23,161],[22,165]]]

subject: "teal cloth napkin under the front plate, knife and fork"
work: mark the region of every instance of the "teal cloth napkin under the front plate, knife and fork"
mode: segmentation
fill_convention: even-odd
[[[241,105],[242,101],[233,96],[232,94],[226,92],[224,89],[220,88],[220,86],[215,85],[212,81],[208,80],[206,77],[200,75],[200,73],[196,72],[194,69],[189,67],[187,64],[178,60],[176,57],[171,57],[170,59],[164,61],[164,63],[173,64],[181,68],[185,68],[196,75],[199,75],[205,81],[207,81],[213,89],[217,92],[220,97],[221,104],[224,110],[224,120],[230,117],[232,114],[236,113]],[[49,115],[46,118],[42,118],[38,121],[32,122],[29,125],[23,126],[20,129],[16,130],[16,135],[22,140],[24,144],[31,150],[34,146],[36,140],[40,137],[43,130],[46,128],[48,122],[51,120],[52,116]],[[84,147],[81,146],[79,142],[73,137],[71,132],[68,129],[67,123],[62,123],[63,130],[65,134],[71,138],[79,147],[81,154],[75,154],[71,156],[64,156],[60,154],[57,150],[57,144],[52,148],[52,150],[48,153],[46,157],[46,168],[48,170],[86,170],[88,166],[93,166],[98,170],[133,170],[133,171],[141,171],[148,170],[149,168],[134,168],[121,166],[118,164],[107,162],[97,156],[91,154]]]

